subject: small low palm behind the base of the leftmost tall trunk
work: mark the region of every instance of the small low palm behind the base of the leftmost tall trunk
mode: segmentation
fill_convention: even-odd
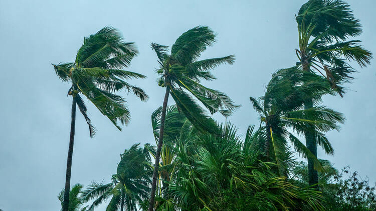
[[[72,189],[69,191],[69,205],[68,210],[69,211],[86,211],[87,206],[83,207],[84,201],[82,198],[82,184],[75,184],[73,185]],[[64,202],[64,188],[61,190],[61,192],[58,195],[58,199],[61,202],[61,206],[63,207]]]

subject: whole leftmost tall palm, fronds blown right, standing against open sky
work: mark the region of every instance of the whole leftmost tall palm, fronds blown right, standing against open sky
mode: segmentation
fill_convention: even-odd
[[[132,91],[142,101],[148,98],[141,88],[124,81],[129,78],[145,77],[142,74],[122,70],[129,66],[130,61],[137,53],[134,43],[124,42],[121,33],[116,28],[104,27],[97,33],[84,38],[84,43],[78,50],[74,62],[53,64],[59,78],[64,82],[71,83],[68,95],[72,96],[72,121],[63,211],[68,211],[69,204],[76,105],[89,125],[90,137],[95,134],[95,128],[87,115],[87,107],[80,94],[85,95],[103,115],[107,116],[121,130],[117,120],[127,124],[130,120],[130,113],[124,98],[115,92],[126,89]]]

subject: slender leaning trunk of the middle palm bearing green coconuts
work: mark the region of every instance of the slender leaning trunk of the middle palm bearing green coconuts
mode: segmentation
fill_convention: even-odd
[[[153,207],[154,207],[155,190],[156,190],[156,183],[157,183],[157,176],[158,176],[158,169],[159,169],[159,156],[160,156],[160,150],[163,144],[164,117],[166,116],[166,108],[167,108],[167,101],[168,101],[169,93],[170,93],[170,88],[167,85],[166,93],[164,94],[162,113],[160,116],[159,139],[158,139],[157,150],[155,152],[155,165],[154,165],[154,171],[153,171],[153,181],[151,183],[149,208],[147,209],[148,211],[153,211]]]

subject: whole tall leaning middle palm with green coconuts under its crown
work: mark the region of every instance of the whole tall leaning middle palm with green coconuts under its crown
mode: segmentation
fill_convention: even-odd
[[[157,70],[157,73],[161,75],[158,84],[165,87],[166,90],[160,117],[149,211],[152,211],[154,207],[168,96],[171,94],[178,109],[197,129],[203,132],[219,133],[214,120],[205,114],[204,109],[196,103],[192,96],[201,101],[212,114],[219,111],[223,115],[229,115],[237,107],[225,93],[207,88],[200,83],[202,79],[215,79],[210,70],[219,64],[232,64],[234,62],[234,55],[198,60],[201,52],[214,42],[215,34],[210,28],[197,26],[181,34],[172,45],[170,53],[168,46],[151,43],[160,64]]]

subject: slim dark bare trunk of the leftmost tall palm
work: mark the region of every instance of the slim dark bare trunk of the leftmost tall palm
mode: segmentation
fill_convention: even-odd
[[[71,135],[69,137],[68,158],[67,158],[67,172],[65,175],[65,189],[63,200],[63,211],[68,211],[69,208],[69,190],[71,186],[71,168],[72,168],[72,155],[73,155],[73,143],[74,143],[74,129],[76,123],[76,98],[72,99],[72,120],[71,120]]]

